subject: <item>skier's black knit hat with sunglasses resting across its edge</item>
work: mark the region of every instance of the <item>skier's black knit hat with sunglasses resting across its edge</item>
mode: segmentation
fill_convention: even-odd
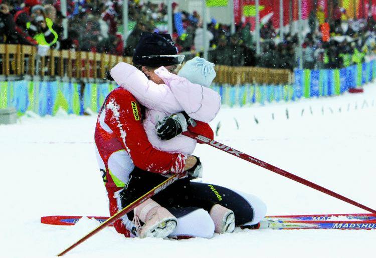
[[[143,32],[133,52],[133,63],[160,67],[181,64],[184,56],[178,55],[170,35]]]

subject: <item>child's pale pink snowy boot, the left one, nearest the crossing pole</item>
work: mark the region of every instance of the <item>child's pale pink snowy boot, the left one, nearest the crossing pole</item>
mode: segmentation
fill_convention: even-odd
[[[152,199],[147,199],[134,209],[134,220],[141,220],[144,225],[138,231],[139,237],[168,236],[175,229],[177,219],[166,208]]]

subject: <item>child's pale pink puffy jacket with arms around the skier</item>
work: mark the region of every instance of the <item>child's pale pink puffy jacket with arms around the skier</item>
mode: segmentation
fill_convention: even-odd
[[[160,140],[155,124],[166,115],[185,111],[191,118],[208,123],[221,107],[221,97],[212,89],[191,83],[185,78],[169,73],[164,67],[154,71],[165,84],[156,84],[132,65],[120,62],[111,69],[111,76],[122,88],[128,90],[146,107],[143,126],[150,143],[167,152],[192,154],[196,140],[178,135],[170,140]]]

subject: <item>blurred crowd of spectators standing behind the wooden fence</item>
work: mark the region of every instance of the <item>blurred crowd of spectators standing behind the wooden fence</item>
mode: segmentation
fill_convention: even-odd
[[[122,35],[123,1],[67,0],[67,16],[60,9],[60,0],[0,0],[0,43],[46,45],[55,49],[74,49],[131,56],[144,31],[166,33],[167,6],[148,1],[128,1],[130,34]],[[341,68],[361,63],[375,50],[375,26],[368,19],[347,19],[346,13],[334,7],[326,19],[320,8],[308,17],[308,26],[301,39],[303,68]],[[203,51],[206,34],[209,60],[218,65],[259,66],[293,69],[298,66],[299,35],[285,33],[283,40],[271,20],[260,27],[261,54],[256,47],[250,23],[230,25],[211,18],[207,31],[198,12],[179,10],[172,3],[172,38],[179,52],[193,57]],[[68,37],[63,35],[63,19],[68,19]]]

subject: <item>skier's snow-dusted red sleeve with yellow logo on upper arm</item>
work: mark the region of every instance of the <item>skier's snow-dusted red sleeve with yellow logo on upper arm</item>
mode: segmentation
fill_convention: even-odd
[[[140,106],[126,90],[118,88],[105,102],[105,123],[121,139],[133,164],[154,173],[180,173],[185,165],[181,153],[167,153],[153,148],[141,123]]]

